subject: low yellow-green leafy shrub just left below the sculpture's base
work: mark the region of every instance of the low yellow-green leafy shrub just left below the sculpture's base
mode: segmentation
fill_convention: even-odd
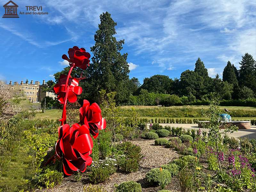
[[[35,183],[46,188],[53,188],[54,185],[60,184],[62,179],[63,173],[47,168],[44,173],[36,176]]]

